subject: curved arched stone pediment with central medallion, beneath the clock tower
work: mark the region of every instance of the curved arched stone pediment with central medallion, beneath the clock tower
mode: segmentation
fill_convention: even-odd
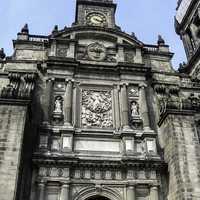
[[[69,28],[59,31],[51,38],[56,43],[56,56],[68,57],[70,45],[73,43],[75,58],[83,62],[134,63],[136,49],[143,47],[136,38],[111,29]],[[123,49],[123,58],[119,55],[120,48]]]

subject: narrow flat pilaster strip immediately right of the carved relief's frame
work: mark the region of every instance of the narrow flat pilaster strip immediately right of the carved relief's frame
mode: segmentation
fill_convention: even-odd
[[[114,100],[115,100],[115,128],[120,129],[120,111],[119,111],[119,86],[114,86]]]

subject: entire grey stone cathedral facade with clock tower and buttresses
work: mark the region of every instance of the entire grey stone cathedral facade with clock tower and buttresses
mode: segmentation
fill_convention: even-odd
[[[0,50],[0,200],[200,199],[199,4],[179,1],[179,71],[113,0],[77,0],[49,36],[25,25]]]

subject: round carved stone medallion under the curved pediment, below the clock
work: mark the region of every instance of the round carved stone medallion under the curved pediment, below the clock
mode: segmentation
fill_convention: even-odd
[[[106,48],[104,45],[95,42],[88,46],[87,54],[91,60],[103,61],[106,58]]]

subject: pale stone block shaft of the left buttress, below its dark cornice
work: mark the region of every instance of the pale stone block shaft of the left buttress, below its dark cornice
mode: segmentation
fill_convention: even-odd
[[[17,192],[27,106],[0,105],[0,200]]]

